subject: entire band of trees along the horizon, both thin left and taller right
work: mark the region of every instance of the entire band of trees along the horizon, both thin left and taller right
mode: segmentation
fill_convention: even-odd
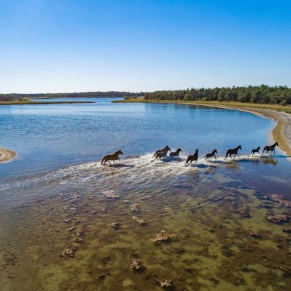
[[[41,94],[0,94],[0,101],[25,100],[27,98],[46,97],[141,97],[145,100],[184,100],[184,101],[221,101],[257,104],[291,104],[291,88],[287,86],[241,86],[222,88],[187,88],[186,90],[163,90],[155,92],[93,91],[80,93],[41,93]]]

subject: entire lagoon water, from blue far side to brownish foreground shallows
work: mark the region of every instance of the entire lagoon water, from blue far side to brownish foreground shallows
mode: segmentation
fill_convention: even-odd
[[[18,151],[0,165],[4,290],[162,290],[165,279],[169,290],[287,290],[290,224],[265,216],[289,217],[266,195],[290,198],[291,163],[278,149],[249,155],[270,144],[274,123],[234,110],[109,101],[0,107],[1,147]],[[180,158],[155,161],[165,144],[181,147]],[[225,159],[238,144],[240,157]],[[197,163],[184,165],[196,148]],[[204,161],[215,148],[217,159]],[[100,165],[118,149],[121,161]],[[177,238],[150,241],[161,230]],[[130,259],[143,268],[131,269]]]

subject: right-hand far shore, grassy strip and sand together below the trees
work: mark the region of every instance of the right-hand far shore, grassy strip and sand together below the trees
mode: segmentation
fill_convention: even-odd
[[[291,156],[291,107],[283,107],[273,104],[250,104],[238,102],[217,102],[217,101],[175,101],[175,100],[143,100],[142,98],[132,98],[128,100],[112,101],[114,103],[163,103],[163,104],[187,104],[200,105],[223,109],[236,109],[250,112],[266,119],[277,121],[272,131],[273,141],[278,142],[280,149],[285,151],[287,156]]]

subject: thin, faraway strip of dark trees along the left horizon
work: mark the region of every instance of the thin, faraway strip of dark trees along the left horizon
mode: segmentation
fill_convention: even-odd
[[[132,93],[132,92],[119,92],[119,91],[107,91],[107,92],[80,92],[80,93],[46,93],[46,94],[0,94],[0,101],[13,101],[24,100],[27,98],[74,98],[74,97],[134,97],[144,96],[144,92]]]

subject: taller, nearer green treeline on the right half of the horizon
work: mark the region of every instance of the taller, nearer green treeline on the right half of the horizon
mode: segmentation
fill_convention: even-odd
[[[291,104],[291,88],[287,86],[245,86],[231,88],[191,88],[187,90],[146,93],[146,100],[205,100],[264,104]]]

